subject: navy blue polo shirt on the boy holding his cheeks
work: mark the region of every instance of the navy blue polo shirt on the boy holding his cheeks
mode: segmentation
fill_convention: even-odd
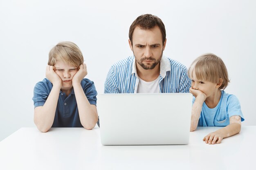
[[[47,78],[36,84],[34,87],[34,97],[32,98],[35,108],[45,104],[52,86],[52,83]],[[89,79],[83,79],[81,86],[90,104],[96,105],[97,91],[94,83]],[[79,119],[74,89],[72,89],[68,96],[60,91],[52,127],[83,127]]]

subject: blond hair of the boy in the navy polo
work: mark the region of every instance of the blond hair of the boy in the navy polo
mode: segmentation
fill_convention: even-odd
[[[48,65],[54,66],[56,60],[63,61],[71,66],[79,67],[83,64],[83,54],[73,42],[60,42],[49,52]]]

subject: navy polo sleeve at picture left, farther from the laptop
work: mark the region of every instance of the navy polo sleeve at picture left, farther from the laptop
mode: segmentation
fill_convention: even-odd
[[[34,87],[34,107],[43,106],[48,98],[52,87],[47,86],[47,82],[38,82]]]

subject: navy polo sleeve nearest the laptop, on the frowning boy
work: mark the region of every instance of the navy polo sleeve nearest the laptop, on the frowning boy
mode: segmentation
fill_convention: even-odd
[[[97,104],[97,91],[94,85],[94,82],[90,81],[89,79],[86,79],[85,86],[83,87],[83,91],[85,93],[85,96],[87,97],[90,104]]]

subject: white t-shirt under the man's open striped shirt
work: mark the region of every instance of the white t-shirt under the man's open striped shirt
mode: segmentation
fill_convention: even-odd
[[[145,82],[139,78],[137,93],[160,93],[159,78],[160,75],[152,82]]]

